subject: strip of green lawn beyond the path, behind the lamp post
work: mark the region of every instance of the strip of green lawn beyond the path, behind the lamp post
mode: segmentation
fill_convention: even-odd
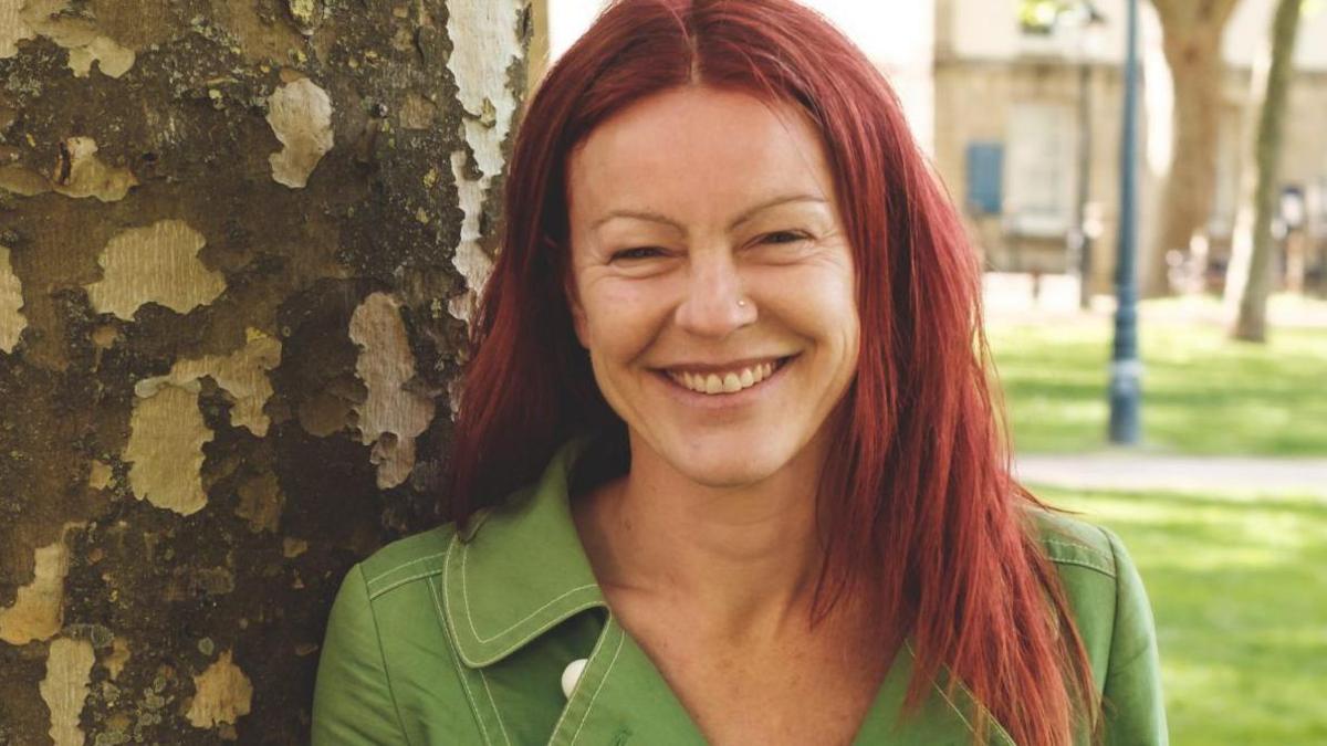
[[[1020,453],[1107,446],[1111,321],[987,327]],[[1327,457],[1327,328],[1273,329],[1266,345],[1221,328],[1147,323],[1143,450]]]

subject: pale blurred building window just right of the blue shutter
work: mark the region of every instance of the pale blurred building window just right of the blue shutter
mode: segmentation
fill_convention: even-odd
[[[1014,104],[1005,141],[1005,214],[1009,230],[1026,236],[1063,235],[1072,219],[1074,137],[1071,106]]]

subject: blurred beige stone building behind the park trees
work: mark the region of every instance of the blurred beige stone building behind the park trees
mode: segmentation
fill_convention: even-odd
[[[1217,277],[1229,258],[1241,171],[1251,162],[1257,104],[1250,76],[1267,40],[1273,4],[1243,0],[1223,36],[1223,104],[1212,112],[1218,118],[1217,191],[1208,226],[1208,265]],[[1040,24],[1020,17],[1019,5],[937,0],[936,163],[990,268],[1072,276],[1080,256],[1075,230],[1083,226],[1095,248],[1091,288],[1108,292],[1125,3],[1099,0],[1092,12],[1062,13]],[[1292,240],[1304,243],[1300,271],[1320,284],[1327,251],[1327,13],[1306,15],[1299,33],[1282,190],[1285,215],[1299,234]],[[1143,4],[1143,45],[1141,244],[1152,247],[1153,196],[1170,159],[1173,92],[1151,3]],[[1143,263],[1145,271],[1154,265]]]

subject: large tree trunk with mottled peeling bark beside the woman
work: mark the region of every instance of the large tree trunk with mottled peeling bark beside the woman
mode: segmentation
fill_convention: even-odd
[[[299,743],[434,523],[525,0],[0,0],[0,743]]]

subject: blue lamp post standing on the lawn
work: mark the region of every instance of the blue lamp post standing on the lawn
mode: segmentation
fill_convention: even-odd
[[[1129,0],[1124,56],[1124,135],[1120,143],[1120,235],[1115,269],[1115,342],[1111,350],[1111,442],[1136,445],[1141,437],[1143,361],[1139,360],[1137,279],[1137,98],[1139,0]]]

